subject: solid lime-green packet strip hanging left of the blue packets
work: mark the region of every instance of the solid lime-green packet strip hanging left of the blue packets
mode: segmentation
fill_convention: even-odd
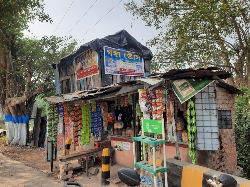
[[[89,145],[91,137],[91,105],[90,103],[83,103],[82,109],[82,129],[81,129],[81,145]]]

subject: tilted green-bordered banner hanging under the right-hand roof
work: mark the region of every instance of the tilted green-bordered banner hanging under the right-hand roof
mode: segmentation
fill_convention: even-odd
[[[214,80],[180,79],[171,80],[171,85],[180,102],[184,103],[213,82]]]

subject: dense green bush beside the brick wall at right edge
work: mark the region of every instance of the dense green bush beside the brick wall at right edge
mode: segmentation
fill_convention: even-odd
[[[238,165],[243,175],[250,179],[250,88],[242,88],[235,103],[235,139],[238,152]]]

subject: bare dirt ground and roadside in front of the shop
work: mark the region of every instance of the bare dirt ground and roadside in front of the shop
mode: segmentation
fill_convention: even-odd
[[[112,173],[116,174],[117,170],[115,168]],[[0,178],[4,181],[0,187],[60,187],[64,182],[58,179],[58,174],[59,162],[54,161],[51,172],[45,148],[6,146],[0,141]],[[101,187],[100,177],[100,172],[97,176],[88,177],[85,173],[78,173],[74,175],[74,180],[84,187]]]

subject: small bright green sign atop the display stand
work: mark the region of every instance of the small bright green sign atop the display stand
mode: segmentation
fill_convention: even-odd
[[[143,119],[143,131],[155,134],[162,134],[162,120]]]

